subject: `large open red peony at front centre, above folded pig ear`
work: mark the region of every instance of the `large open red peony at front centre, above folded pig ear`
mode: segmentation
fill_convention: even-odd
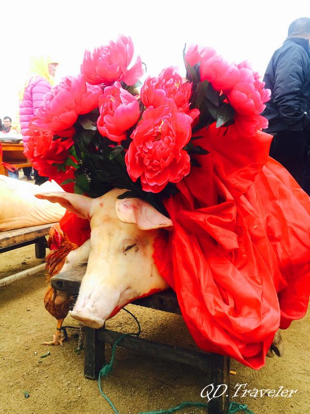
[[[140,177],[144,191],[162,191],[189,173],[190,158],[183,148],[191,137],[191,123],[192,118],[178,112],[172,100],[143,112],[125,162],[131,179],[135,182]]]

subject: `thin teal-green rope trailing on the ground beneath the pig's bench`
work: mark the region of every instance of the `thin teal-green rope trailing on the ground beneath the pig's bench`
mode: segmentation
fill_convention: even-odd
[[[133,315],[131,312],[129,312],[127,309],[123,308],[124,311],[126,311],[127,313],[129,313],[137,322],[138,324],[138,332],[135,333],[130,333],[130,334],[124,334],[122,336],[120,336],[118,338],[118,340],[114,343],[114,345],[112,346],[112,355],[111,355],[111,360],[109,362],[109,364],[103,366],[99,372],[99,378],[98,378],[98,386],[99,386],[99,391],[100,394],[102,395],[102,397],[104,397],[110,404],[112,410],[114,411],[115,414],[120,414],[117,409],[115,408],[114,404],[112,403],[112,401],[109,399],[109,397],[102,391],[101,388],[101,377],[105,377],[107,376],[111,371],[112,371],[112,366],[114,363],[114,357],[115,357],[115,350],[116,350],[116,346],[117,344],[125,337],[128,335],[136,335],[139,336],[141,333],[141,327],[140,327],[140,323],[139,320],[135,317],[135,315]],[[183,408],[186,407],[202,407],[202,408],[206,408],[208,407],[207,403],[204,402],[182,402],[181,404],[179,404],[176,407],[173,408],[169,408],[168,410],[161,410],[161,411],[148,411],[146,413],[139,413],[139,414],[171,414],[171,413],[175,413],[176,411],[182,410]],[[229,405],[229,409],[228,409],[228,414],[233,414],[236,413],[237,411],[243,411],[245,414],[254,414],[251,410],[248,409],[247,405],[243,405],[243,404],[239,404],[237,402],[231,402]]]

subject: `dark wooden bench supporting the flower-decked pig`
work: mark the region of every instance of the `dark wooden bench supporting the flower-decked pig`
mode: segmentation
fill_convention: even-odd
[[[55,289],[78,295],[79,286],[85,271],[86,266],[79,266],[59,273],[51,279],[51,285]],[[132,304],[181,314],[176,295],[172,290],[138,299]],[[105,364],[105,343],[114,344],[121,335],[123,333],[114,332],[105,327],[100,329],[85,328],[84,376],[86,378],[98,378],[99,371]],[[206,374],[202,381],[203,384],[227,384],[227,390],[229,391],[230,358],[227,356],[187,350],[136,336],[124,337],[119,346],[130,350],[137,350],[154,357],[201,368]],[[208,413],[228,413],[228,394],[229,392],[227,392],[227,395],[225,393],[225,395],[219,398],[213,398],[208,404]]]

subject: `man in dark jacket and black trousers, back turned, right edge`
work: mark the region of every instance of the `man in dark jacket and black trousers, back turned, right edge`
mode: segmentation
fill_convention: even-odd
[[[265,72],[271,99],[263,111],[274,135],[270,157],[279,161],[310,194],[310,18],[294,20],[288,37]]]

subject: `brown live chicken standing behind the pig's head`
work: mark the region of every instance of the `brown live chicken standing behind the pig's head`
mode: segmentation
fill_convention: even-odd
[[[47,245],[50,249],[49,254],[46,256],[46,270],[47,270],[47,282],[58,274],[62,270],[62,266],[69,252],[78,248],[78,245],[72,243],[67,235],[62,231],[59,225],[52,226],[49,231],[49,238]],[[56,290],[49,286],[44,296],[44,304],[47,311],[57,319],[56,333],[53,336],[51,342],[43,342],[43,345],[61,345],[64,341],[62,336],[62,322],[68,315],[70,307],[74,303],[74,298],[67,292]]]

